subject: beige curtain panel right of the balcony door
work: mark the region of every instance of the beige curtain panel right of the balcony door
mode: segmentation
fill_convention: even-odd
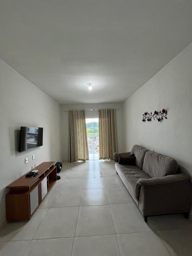
[[[99,159],[114,159],[117,150],[115,109],[99,109]]]

